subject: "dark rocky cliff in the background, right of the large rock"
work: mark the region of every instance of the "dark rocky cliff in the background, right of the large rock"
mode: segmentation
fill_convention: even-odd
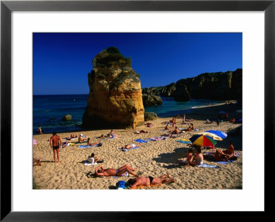
[[[234,100],[242,97],[243,69],[217,73],[205,73],[193,78],[185,78],[165,87],[142,89],[143,93],[167,96],[178,101],[192,99]]]

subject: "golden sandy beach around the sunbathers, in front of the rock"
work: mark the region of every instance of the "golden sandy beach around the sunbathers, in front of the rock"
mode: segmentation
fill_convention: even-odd
[[[169,174],[175,178],[173,184],[162,184],[143,189],[241,189],[242,188],[242,137],[241,135],[229,135],[225,140],[218,141],[215,148],[225,149],[228,141],[232,141],[235,152],[240,153],[235,162],[228,164],[217,164],[204,160],[205,164],[217,165],[219,168],[199,168],[181,166],[177,160],[184,159],[188,154],[189,146],[176,140],[189,139],[192,135],[208,130],[219,130],[225,133],[236,129],[241,124],[221,122],[219,126],[215,122],[219,111],[228,111],[229,118],[236,115],[236,110],[241,109],[237,104],[221,104],[210,107],[200,107],[192,109],[192,113],[186,115],[192,118],[192,123],[199,131],[186,132],[177,138],[168,138],[161,141],[149,141],[142,143],[140,148],[122,152],[121,146],[126,144],[137,144],[135,140],[156,137],[167,133],[163,122],[172,118],[159,118],[150,121],[153,127],[138,126],[137,131],[148,131],[140,135],[134,133],[132,129],[115,129],[115,134],[120,135],[114,139],[98,139],[96,137],[109,133],[111,129],[81,131],[74,134],[90,137],[91,142],[101,142],[100,147],[79,148],[79,144],[66,146],[60,149],[61,163],[54,163],[54,155],[50,143],[51,134],[34,135],[37,144],[33,146],[33,155],[41,159],[42,166],[33,167],[33,177],[35,183],[41,189],[115,189],[115,183],[128,178],[100,178],[93,177],[94,169],[100,164],[85,166],[84,161],[88,155],[95,153],[99,159],[104,159],[104,168],[120,168],[128,164],[137,168],[137,173],[141,176],[159,177]],[[182,117],[182,113],[179,113]],[[207,119],[212,119],[212,124],[205,124]],[[188,125],[181,124],[182,118],[177,118],[177,127],[186,129]],[[61,138],[69,137],[71,133],[58,133]],[[64,141],[64,140],[63,140]],[[72,142],[76,140],[72,140]],[[208,150],[210,151],[210,150]]]

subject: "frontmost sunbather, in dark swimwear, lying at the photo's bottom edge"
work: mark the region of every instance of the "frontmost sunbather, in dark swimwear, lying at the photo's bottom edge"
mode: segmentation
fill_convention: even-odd
[[[129,179],[127,181],[130,185],[130,188],[133,189],[137,186],[149,186],[150,184],[165,184],[168,182],[175,182],[175,179],[172,179],[170,175],[163,175],[162,177],[136,177],[135,179]]]

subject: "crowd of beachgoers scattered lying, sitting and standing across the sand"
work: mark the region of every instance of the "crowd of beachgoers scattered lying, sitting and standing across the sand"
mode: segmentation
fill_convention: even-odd
[[[190,126],[188,126],[187,129],[183,129],[181,131],[179,131],[178,127],[177,127],[177,119],[178,117],[173,117],[172,120],[169,120],[168,122],[165,122],[166,126],[164,128],[165,131],[168,131],[168,137],[173,137],[173,135],[178,135],[179,133],[183,133],[183,132],[190,132],[190,131],[194,131],[195,130],[195,126],[192,123],[192,118],[186,118],[185,113],[183,113],[182,115],[183,120],[181,122],[181,124],[189,124]],[[228,115],[226,116],[226,118],[228,118]],[[217,118],[217,124],[219,125],[221,119],[221,115],[218,115]],[[191,122],[191,123],[187,123],[187,122]],[[231,119],[230,122],[233,122],[233,120]],[[212,123],[212,120],[207,120],[206,124],[210,124]],[[148,127],[153,127],[152,123],[144,123],[145,126]],[[131,123],[132,126],[132,130],[136,131],[136,125],[135,125],[135,121],[133,120],[133,122]],[[41,126],[39,126],[39,133],[43,133]],[[136,132],[137,133],[137,132]],[[140,133],[148,133],[148,131],[138,131],[137,134]],[[107,134],[102,134],[100,135],[100,139],[107,139],[107,138],[118,138],[120,137],[119,135],[116,135],[113,131],[113,129],[107,133]],[[87,146],[99,146],[100,143],[98,142],[91,142],[90,137],[84,137],[82,133],[80,133],[80,135],[74,135],[71,134],[70,137],[66,137],[66,140],[75,140],[77,139],[78,142],[76,143],[86,143],[87,142]],[[66,142],[65,142],[66,143]],[[52,147],[52,151],[54,153],[54,163],[60,163],[60,148],[62,147],[63,142],[62,139],[59,135],[57,135],[56,132],[52,133],[52,137],[50,137],[50,146]],[[100,145],[102,146],[102,144]],[[141,144],[126,144],[125,146],[122,146],[122,149],[131,149],[131,148],[135,148],[135,147],[140,147],[142,146]],[[232,144],[232,142],[228,142],[228,149],[225,151],[221,151],[221,149],[217,148],[216,151],[212,154],[202,154],[202,150],[203,150],[203,146],[196,146],[196,145],[191,145],[193,148],[195,148],[195,153],[194,153],[194,149],[193,148],[189,148],[188,149],[188,156],[186,157],[186,160],[180,161],[179,164],[184,164],[186,166],[197,166],[197,165],[201,165],[203,164],[203,159],[210,159],[210,160],[214,160],[214,161],[229,161],[229,160],[233,160],[236,159],[236,156],[234,156],[234,146]],[[98,163],[103,163],[103,159],[99,159],[98,157],[95,156],[94,153],[91,153],[91,155],[89,155],[87,157],[87,162],[89,164],[98,164]],[[36,159],[33,158],[33,166],[41,166],[41,161],[40,159]],[[94,174],[97,177],[122,177],[124,175],[133,175],[135,176],[134,179],[129,179],[128,184],[130,188],[136,188],[138,186],[150,186],[150,185],[156,185],[156,184],[164,184],[164,183],[169,183],[169,182],[175,182],[175,179],[173,179],[172,177],[170,177],[170,175],[162,175],[160,177],[141,177],[140,175],[138,175],[137,173],[135,173],[137,169],[132,168],[131,166],[129,166],[128,164],[125,164],[124,166],[115,169],[115,168],[104,168],[102,165],[98,166],[95,168],[94,170]]]

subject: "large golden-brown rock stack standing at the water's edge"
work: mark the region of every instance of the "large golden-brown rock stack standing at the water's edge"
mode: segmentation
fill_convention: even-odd
[[[142,90],[138,74],[115,47],[104,49],[92,60],[94,69],[88,74],[89,98],[83,115],[87,128],[144,124]]]

